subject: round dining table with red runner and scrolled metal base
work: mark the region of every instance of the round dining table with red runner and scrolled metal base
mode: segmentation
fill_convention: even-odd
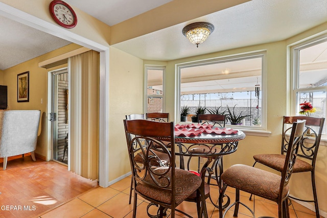
[[[201,169],[208,167],[212,163],[211,169],[215,171],[215,180],[219,189],[221,189],[222,156],[236,152],[239,141],[244,138],[244,132],[238,129],[201,124],[177,124],[175,125],[175,144],[178,149],[175,150],[175,155],[179,156],[180,168],[182,169],[185,169],[184,157],[188,159],[187,170],[190,170],[189,165],[193,157],[206,159]],[[219,167],[219,172],[217,166]],[[201,169],[197,169],[198,173],[201,172]],[[210,177],[208,183],[210,183]],[[226,208],[230,203],[229,197],[225,197],[227,201],[224,201],[223,208]],[[215,207],[219,208],[211,197],[210,200]]]

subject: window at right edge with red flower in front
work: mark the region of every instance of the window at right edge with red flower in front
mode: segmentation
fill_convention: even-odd
[[[295,114],[300,104],[310,102],[314,117],[326,117],[327,91],[327,35],[292,47],[293,107]]]

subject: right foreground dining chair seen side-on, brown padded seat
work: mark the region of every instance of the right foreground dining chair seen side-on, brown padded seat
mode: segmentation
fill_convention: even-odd
[[[294,122],[292,125],[291,135],[286,146],[287,153],[284,158],[282,176],[243,164],[232,165],[222,173],[223,187],[219,193],[219,217],[224,217],[227,211],[234,205],[235,210],[233,216],[238,216],[240,204],[250,210],[253,217],[255,217],[254,211],[240,202],[240,190],[276,202],[278,205],[278,218],[289,217],[288,183],[294,163],[296,163],[296,153],[305,129],[305,124],[306,120],[298,120],[298,122]],[[223,214],[222,198],[228,186],[236,188],[236,197],[235,202],[230,204]]]

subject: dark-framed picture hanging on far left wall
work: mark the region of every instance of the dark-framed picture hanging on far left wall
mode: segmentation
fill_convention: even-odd
[[[17,75],[17,102],[29,102],[30,71]]]

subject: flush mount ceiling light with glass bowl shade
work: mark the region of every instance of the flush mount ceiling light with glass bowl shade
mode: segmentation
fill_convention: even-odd
[[[214,32],[215,27],[208,22],[195,22],[183,28],[183,35],[189,39],[190,42],[196,44],[198,47],[199,44],[204,42],[208,36]]]

